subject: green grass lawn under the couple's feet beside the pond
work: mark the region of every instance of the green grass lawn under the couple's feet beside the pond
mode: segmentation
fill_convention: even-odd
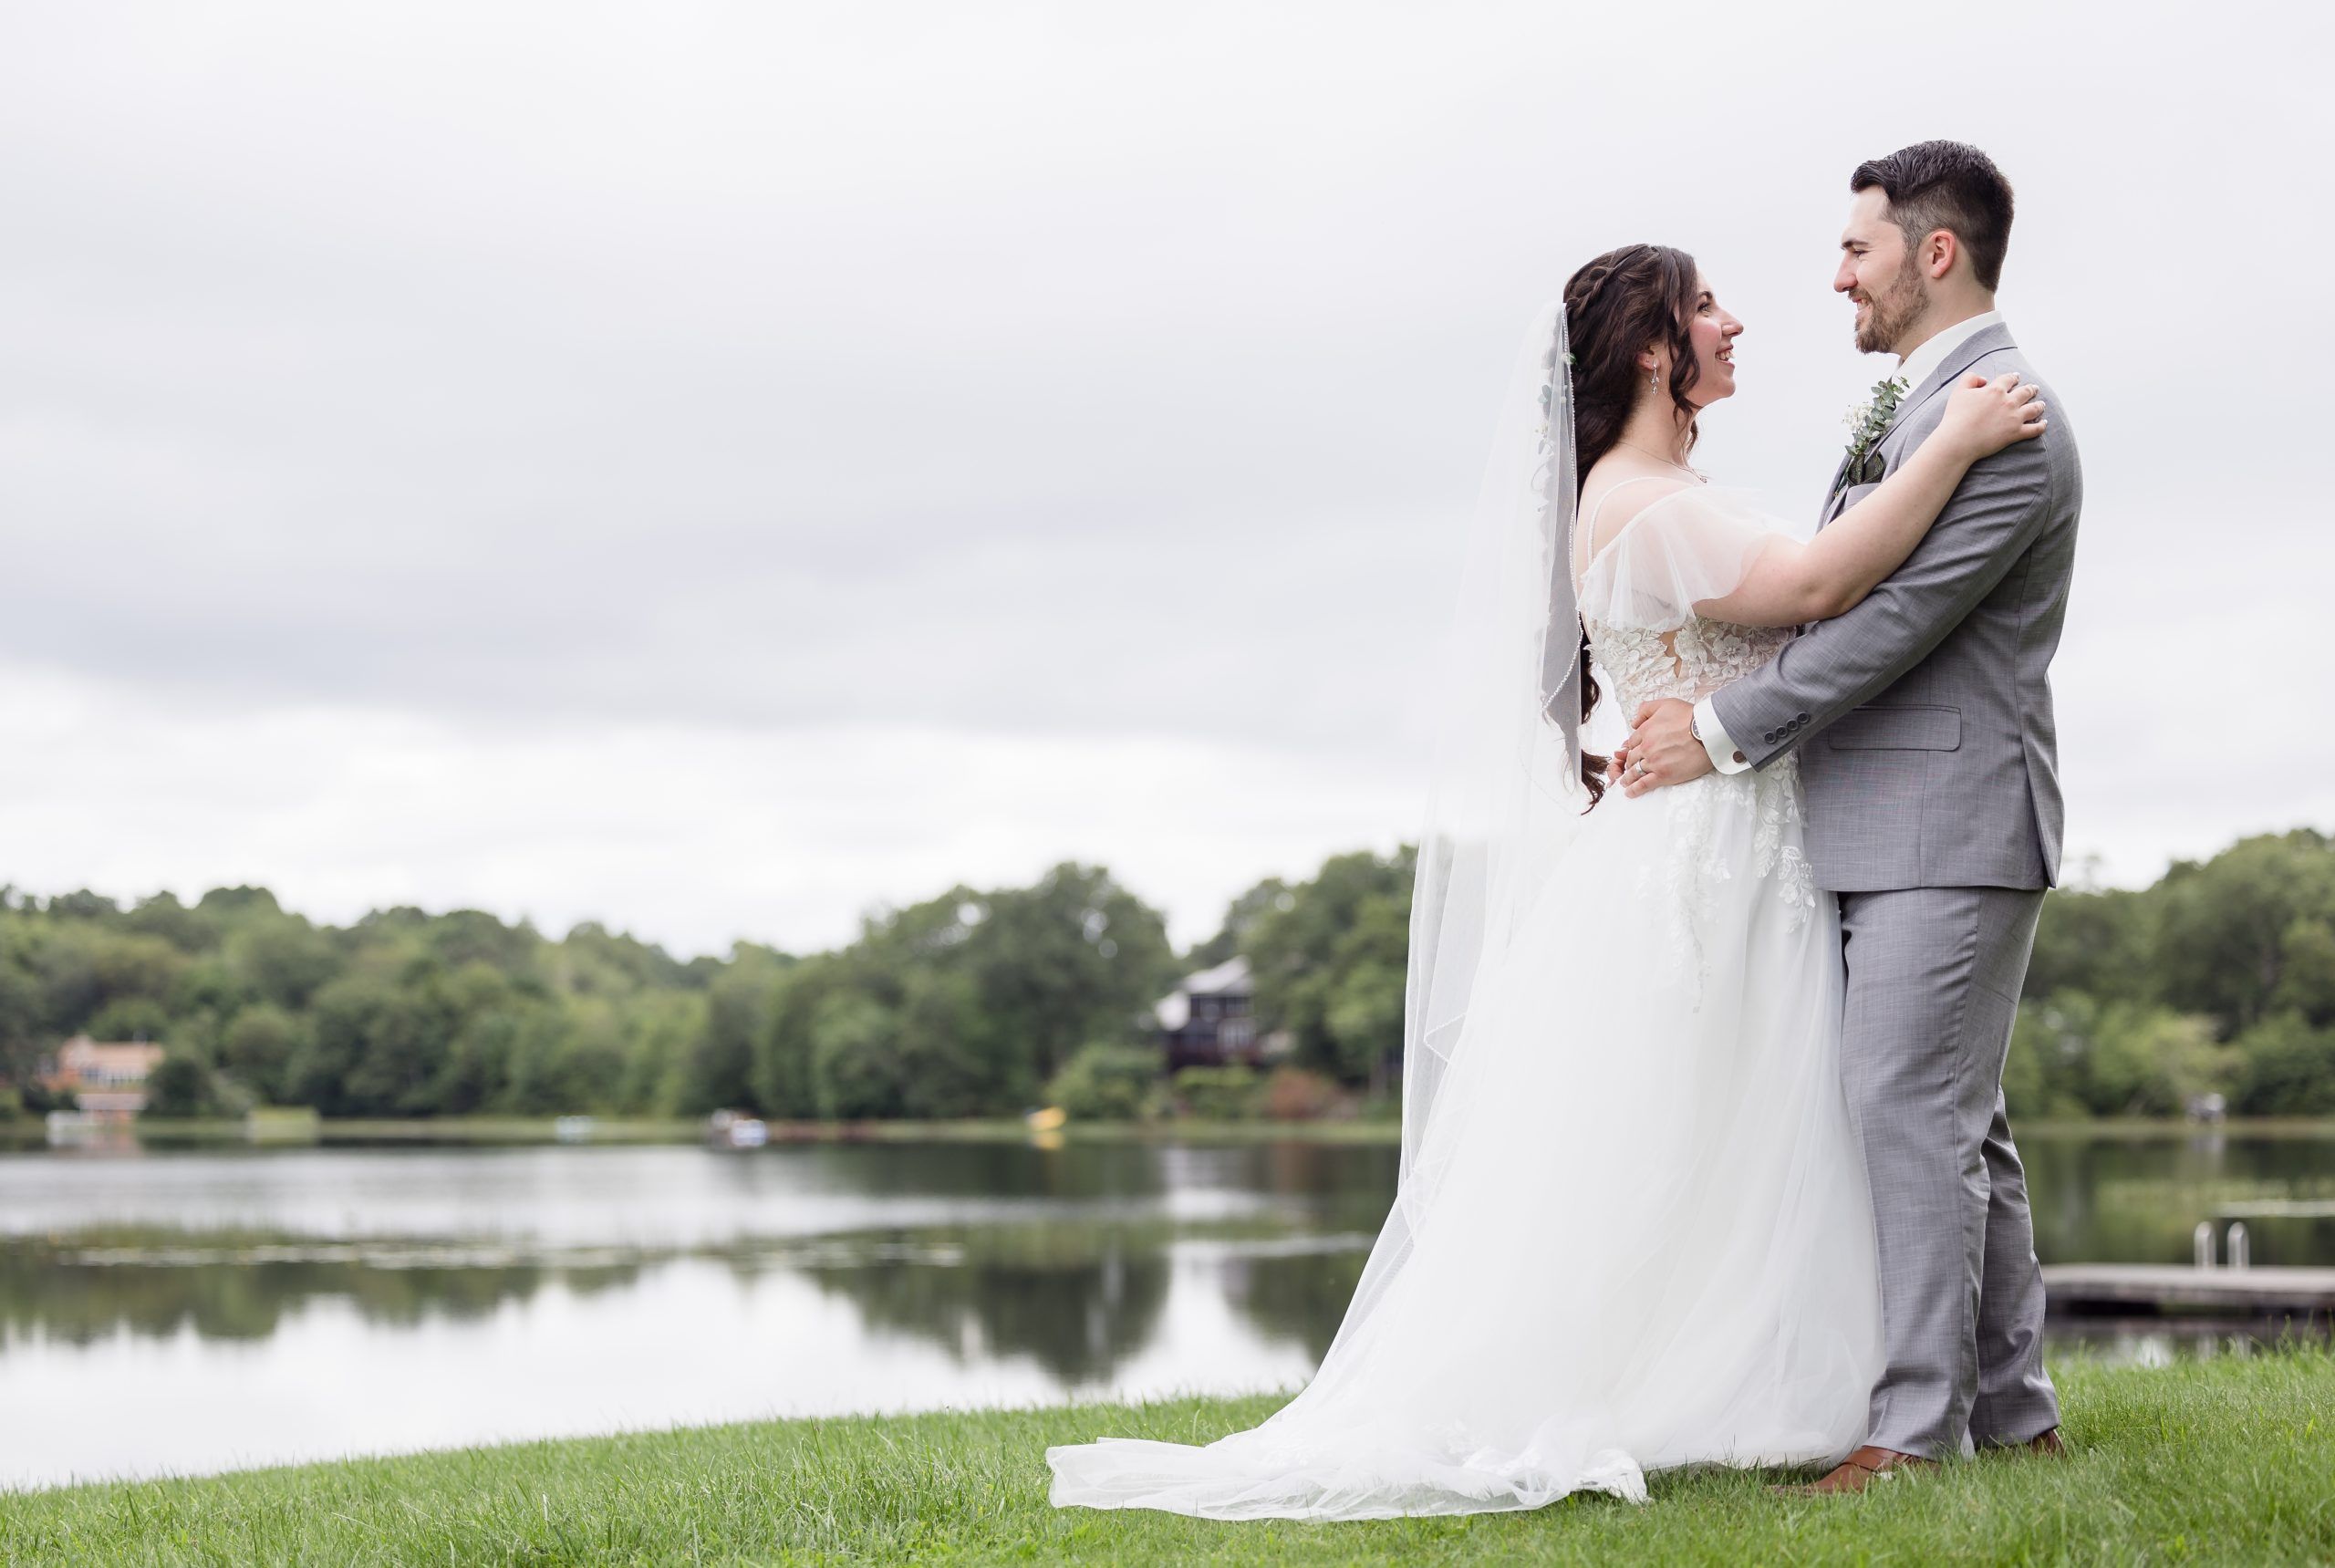
[[[1653,1503],[1217,1524],[1055,1510],[1044,1449],[1207,1442],[1282,1400],[766,1421],[0,1496],[5,1563],[2328,1563],[2335,1355],[2069,1362],[2076,1453],[1863,1498],[1653,1477]],[[30,1418],[12,1411],[9,1418]]]

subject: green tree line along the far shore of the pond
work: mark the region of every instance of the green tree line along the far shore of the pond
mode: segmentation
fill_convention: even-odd
[[[474,909],[334,928],[264,888],[0,890],[0,1112],[42,1110],[70,1035],[154,1040],[156,1115],[985,1117],[1039,1103],[1151,1115],[1151,1005],[1249,958],[1263,1031],[1310,1082],[1371,1103],[1401,1080],[1413,851],[1266,879],[1207,942],[1107,869],[880,909],[834,951],[740,942],[675,958],[602,925],[546,937]],[[1189,1101],[1245,1087],[1200,1075]],[[1238,1094],[1235,1094],[1238,1089]],[[2244,839],[2141,890],[2050,895],[2003,1077],[2013,1115],[2335,1115],[2335,846]],[[1259,1089],[1261,1094],[1261,1089]],[[1282,1084],[1282,1105],[1312,1105]]]

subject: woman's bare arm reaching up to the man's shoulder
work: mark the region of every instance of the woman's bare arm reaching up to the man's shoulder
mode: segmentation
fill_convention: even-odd
[[[1695,603],[1737,626],[1798,626],[1845,615],[1915,551],[1973,463],[2043,435],[2043,400],[2017,372],[1971,374],[1938,430],[1894,474],[1805,544],[1775,540],[1726,598]]]

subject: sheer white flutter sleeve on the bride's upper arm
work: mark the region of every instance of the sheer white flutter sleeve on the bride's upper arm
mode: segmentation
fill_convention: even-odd
[[[1581,573],[1581,619],[1625,631],[1684,626],[1698,603],[1742,587],[1763,549],[1796,537],[1735,491],[1663,491],[1592,547]]]

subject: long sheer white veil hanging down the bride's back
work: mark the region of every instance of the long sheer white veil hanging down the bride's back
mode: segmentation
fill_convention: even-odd
[[[1431,685],[1431,785],[1410,893],[1403,1152],[1394,1210],[1326,1360],[1410,1257],[1450,1161],[1436,1105],[1469,1047],[1471,1002],[1581,830],[1578,502],[1564,306],[1541,306],[1501,402],[1469,523],[1459,596]]]

